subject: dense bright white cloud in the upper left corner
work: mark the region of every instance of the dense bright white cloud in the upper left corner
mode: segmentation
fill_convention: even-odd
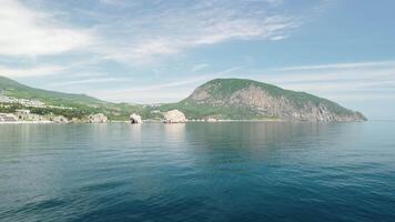
[[[0,7],[0,54],[42,56],[81,49],[92,41],[83,30],[58,24],[49,13],[27,8],[18,0]]]

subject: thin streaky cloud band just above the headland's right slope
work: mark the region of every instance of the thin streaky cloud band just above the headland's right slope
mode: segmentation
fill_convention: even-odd
[[[251,78],[335,101],[395,99],[395,61],[286,67]]]

